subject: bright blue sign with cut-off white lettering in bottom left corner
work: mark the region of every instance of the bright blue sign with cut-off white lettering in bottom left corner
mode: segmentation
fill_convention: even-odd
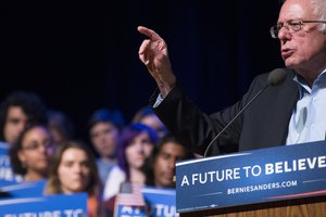
[[[0,201],[0,216],[87,216],[87,194],[57,194],[38,197],[22,197]]]

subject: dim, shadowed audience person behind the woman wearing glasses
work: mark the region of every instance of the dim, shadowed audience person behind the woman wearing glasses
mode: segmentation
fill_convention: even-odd
[[[61,111],[50,110],[47,113],[48,128],[55,144],[74,138],[74,126],[70,118]]]

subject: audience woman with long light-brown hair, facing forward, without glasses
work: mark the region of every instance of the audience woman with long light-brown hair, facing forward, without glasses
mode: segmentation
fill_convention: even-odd
[[[101,182],[95,157],[82,142],[65,141],[58,146],[45,194],[88,193],[88,216],[102,217]]]

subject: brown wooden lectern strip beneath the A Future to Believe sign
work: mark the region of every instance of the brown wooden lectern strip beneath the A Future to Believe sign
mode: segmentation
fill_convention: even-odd
[[[189,216],[326,217],[326,196],[296,199],[180,214],[180,217]]]

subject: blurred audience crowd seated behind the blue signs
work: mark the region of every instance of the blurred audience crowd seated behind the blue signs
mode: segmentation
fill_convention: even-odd
[[[86,192],[91,217],[114,214],[122,183],[174,188],[175,163],[195,158],[149,106],[130,123],[121,111],[98,108],[87,130],[89,140],[76,138],[67,115],[35,92],[12,92],[0,105],[13,173],[22,182],[45,181],[43,195]]]

